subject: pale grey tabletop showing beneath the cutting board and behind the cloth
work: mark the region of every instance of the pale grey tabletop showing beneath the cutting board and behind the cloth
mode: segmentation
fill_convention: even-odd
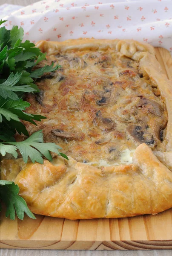
[[[0,0],[4,3],[27,6],[37,0]],[[48,2],[48,0],[47,0]],[[112,0],[113,2],[113,0]],[[172,256],[172,250],[17,250],[0,249],[0,256]]]

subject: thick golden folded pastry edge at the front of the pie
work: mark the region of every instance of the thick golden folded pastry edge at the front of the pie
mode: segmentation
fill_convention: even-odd
[[[8,161],[2,161],[2,172]],[[119,218],[172,207],[172,172],[144,143],[128,166],[100,170],[55,157],[52,163],[28,163],[14,181],[32,212],[52,217]]]

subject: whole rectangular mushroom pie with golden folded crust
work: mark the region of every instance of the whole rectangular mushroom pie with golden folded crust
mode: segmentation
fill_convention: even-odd
[[[25,125],[30,134],[43,129],[69,161],[3,160],[1,178],[14,180],[42,215],[117,218],[172,207],[172,82],[154,48],[95,39],[37,47],[62,67],[37,79],[40,93],[26,96],[29,113],[47,119]]]

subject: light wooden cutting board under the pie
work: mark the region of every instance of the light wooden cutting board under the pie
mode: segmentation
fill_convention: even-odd
[[[155,48],[163,72],[172,79],[172,58]],[[172,249],[172,209],[158,215],[70,221],[36,215],[0,220],[1,248],[66,250]]]

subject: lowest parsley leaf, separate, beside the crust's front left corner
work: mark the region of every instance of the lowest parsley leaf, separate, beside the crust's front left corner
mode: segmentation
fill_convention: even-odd
[[[23,220],[25,212],[30,218],[36,219],[27,207],[26,201],[18,193],[17,184],[8,180],[0,180],[0,198],[6,205],[6,217],[10,216],[10,219],[14,220],[16,212],[17,217]]]

